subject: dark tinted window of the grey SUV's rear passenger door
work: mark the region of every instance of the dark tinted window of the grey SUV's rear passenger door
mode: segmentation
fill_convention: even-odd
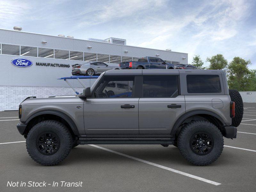
[[[143,76],[143,97],[177,97],[178,76]]]

